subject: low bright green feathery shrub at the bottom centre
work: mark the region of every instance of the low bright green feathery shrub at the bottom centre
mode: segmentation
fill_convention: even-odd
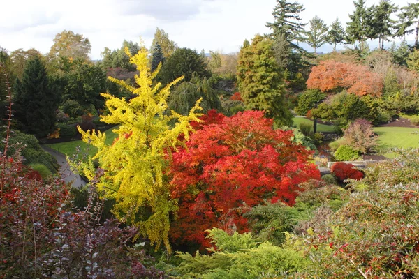
[[[260,243],[249,233],[228,235],[214,228],[209,237],[216,246],[210,255],[178,254],[182,262],[175,271],[182,278],[284,278],[308,264],[300,252]]]

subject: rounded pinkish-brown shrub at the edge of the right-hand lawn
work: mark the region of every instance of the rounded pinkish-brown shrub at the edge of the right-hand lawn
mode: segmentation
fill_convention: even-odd
[[[360,153],[371,151],[376,146],[376,136],[371,123],[365,119],[353,121],[344,132],[343,144]]]

